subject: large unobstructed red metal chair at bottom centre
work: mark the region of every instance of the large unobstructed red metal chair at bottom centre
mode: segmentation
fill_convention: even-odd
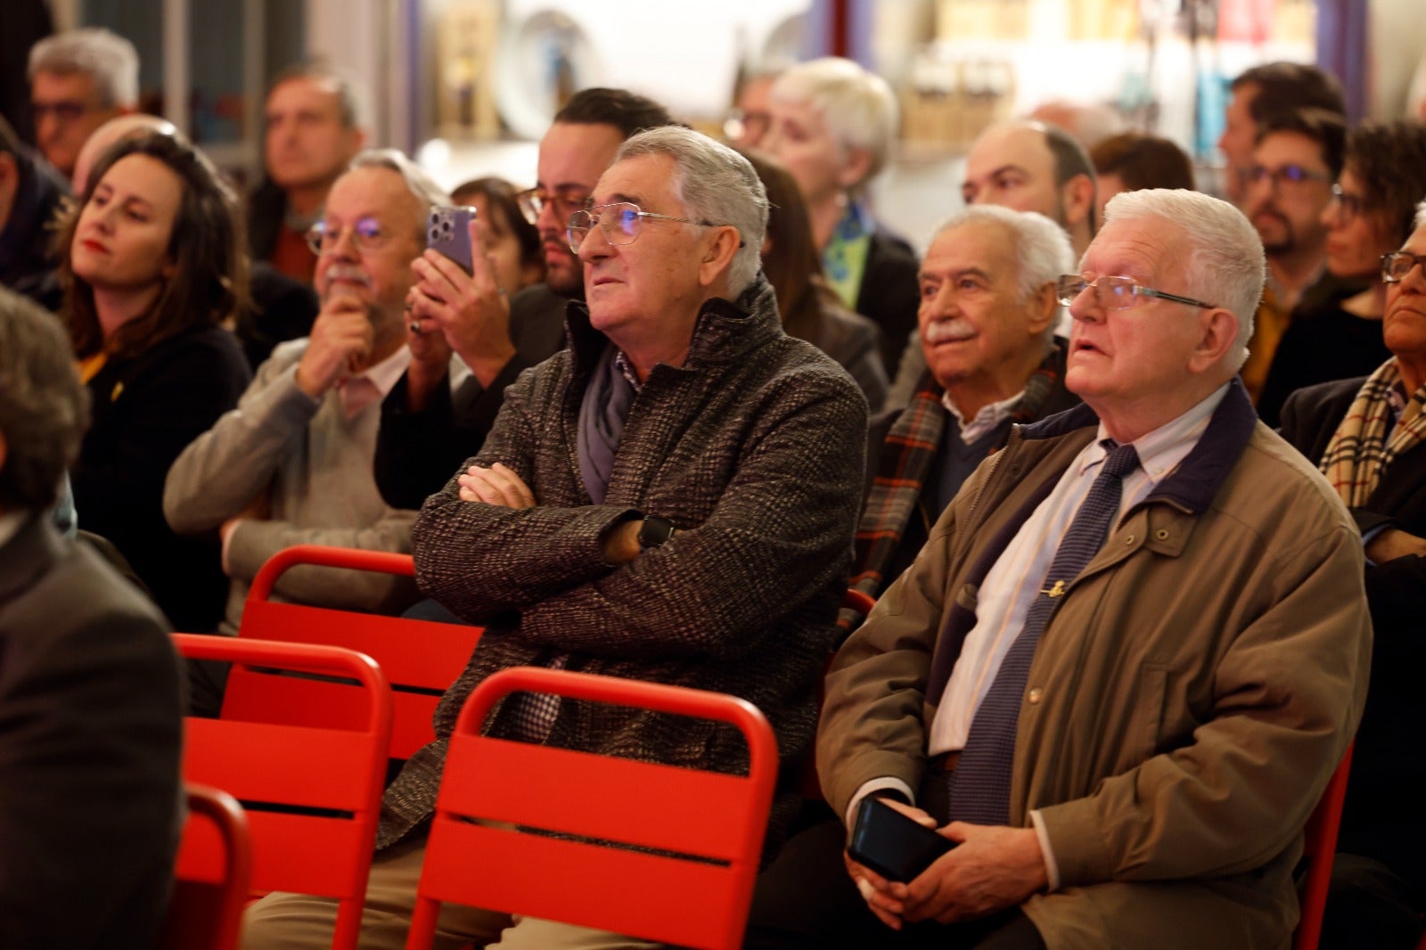
[[[495,702],[520,690],[732,723],[747,740],[749,775],[481,736]],[[451,736],[406,947],[431,946],[442,902],[677,946],[740,947],[776,776],[773,730],[742,699],[565,670],[501,670],[471,693]]]

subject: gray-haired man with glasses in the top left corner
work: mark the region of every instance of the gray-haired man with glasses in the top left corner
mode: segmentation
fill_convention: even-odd
[[[84,140],[138,106],[138,51],[98,27],[46,37],[30,48],[30,106],[40,151],[70,177]]]

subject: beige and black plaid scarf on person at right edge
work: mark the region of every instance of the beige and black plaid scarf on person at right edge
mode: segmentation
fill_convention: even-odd
[[[1322,456],[1322,474],[1348,508],[1360,508],[1376,491],[1382,472],[1426,436],[1426,387],[1417,389],[1392,429],[1392,395],[1405,398],[1396,358],[1383,362],[1358,389],[1346,417]]]

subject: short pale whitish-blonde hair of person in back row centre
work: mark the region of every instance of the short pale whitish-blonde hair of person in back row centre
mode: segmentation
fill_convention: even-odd
[[[871,155],[866,180],[886,165],[900,110],[896,93],[876,73],[851,60],[827,56],[799,63],[779,76],[771,98],[810,104],[843,148],[864,148]]]

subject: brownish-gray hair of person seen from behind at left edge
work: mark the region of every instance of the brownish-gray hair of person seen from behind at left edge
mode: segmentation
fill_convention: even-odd
[[[0,287],[0,509],[43,511],[88,427],[88,392],[60,322]]]

